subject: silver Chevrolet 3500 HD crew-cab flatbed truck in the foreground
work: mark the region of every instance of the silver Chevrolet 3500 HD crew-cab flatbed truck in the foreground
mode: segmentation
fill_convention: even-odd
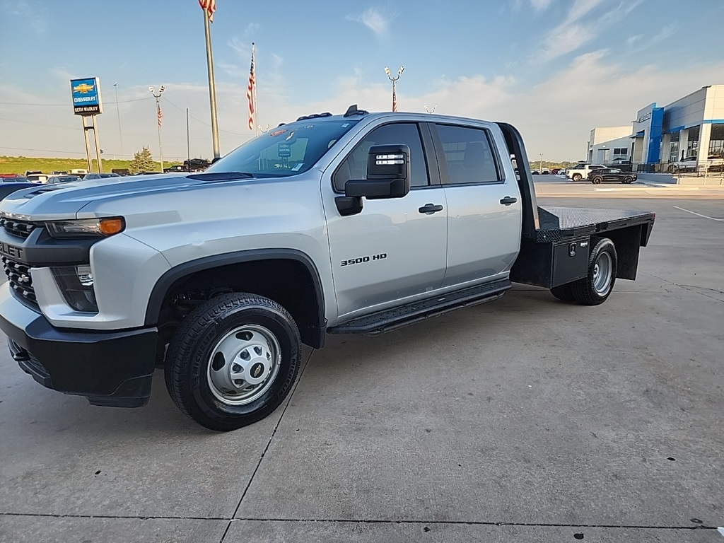
[[[300,346],[500,298],[595,306],[635,279],[654,214],[539,206],[505,123],[313,114],[203,173],[46,185],[0,203],[0,329],[37,382],[146,405],[156,368],[199,424],[274,411]]]

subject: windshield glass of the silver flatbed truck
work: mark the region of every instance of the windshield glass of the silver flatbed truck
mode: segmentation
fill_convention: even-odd
[[[272,128],[236,148],[206,172],[245,172],[255,177],[287,177],[316,164],[359,119],[306,119]]]

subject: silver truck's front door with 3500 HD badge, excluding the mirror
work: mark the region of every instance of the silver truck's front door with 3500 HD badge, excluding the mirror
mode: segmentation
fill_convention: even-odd
[[[366,178],[371,146],[393,143],[410,148],[408,195],[364,198],[360,213],[340,216],[334,196],[344,193],[346,181]],[[405,298],[424,297],[439,289],[447,250],[445,190],[437,175],[431,183],[428,164],[435,164],[434,154],[426,156],[421,127],[416,122],[381,125],[351,146],[334,168],[334,192],[324,198],[337,311],[347,317],[382,311]],[[435,211],[424,211],[430,209],[428,204]]]

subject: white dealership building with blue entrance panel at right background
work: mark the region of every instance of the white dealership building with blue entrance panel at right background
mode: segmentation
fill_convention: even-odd
[[[724,85],[709,85],[666,106],[639,109],[632,127],[591,131],[588,161],[662,172],[689,156],[724,158]]]

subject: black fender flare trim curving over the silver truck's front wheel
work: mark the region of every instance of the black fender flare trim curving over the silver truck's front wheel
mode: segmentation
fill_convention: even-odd
[[[306,267],[314,285],[314,295],[318,313],[317,324],[319,325],[320,336],[324,338],[327,321],[324,312],[324,290],[322,290],[319,271],[306,253],[296,249],[251,249],[249,251],[235,251],[232,253],[205,256],[174,266],[161,275],[156,281],[156,285],[153,285],[153,290],[151,290],[151,296],[148,298],[148,304],[146,306],[146,326],[156,326],[156,324],[158,324],[161,315],[161,304],[174,282],[206,269],[218,268],[229,264],[243,264],[245,262],[264,260],[292,260]],[[324,341],[324,339],[322,339],[322,341]]]

